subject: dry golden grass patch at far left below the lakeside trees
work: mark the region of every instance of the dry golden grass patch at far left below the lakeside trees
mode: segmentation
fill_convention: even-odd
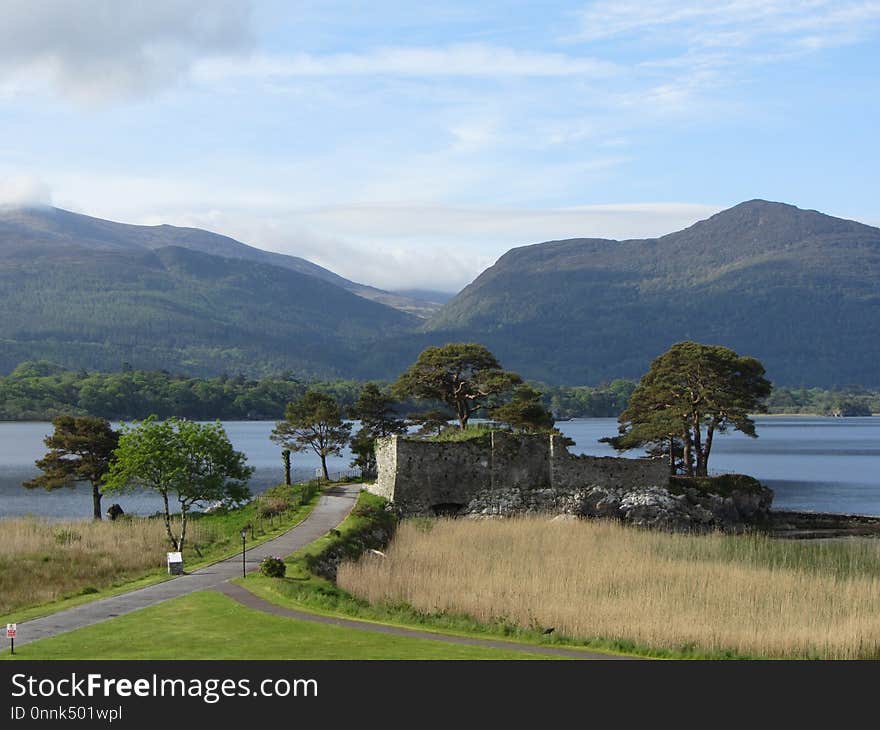
[[[191,528],[198,540],[198,527]],[[161,520],[0,521],[0,616],[139,578],[165,566]]]

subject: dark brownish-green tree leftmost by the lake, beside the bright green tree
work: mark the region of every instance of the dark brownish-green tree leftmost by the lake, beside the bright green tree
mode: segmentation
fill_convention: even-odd
[[[55,430],[43,440],[49,451],[36,462],[43,473],[24,486],[52,490],[89,482],[93,515],[100,520],[104,478],[119,444],[119,432],[109,421],[92,416],[58,416],[52,425]]]

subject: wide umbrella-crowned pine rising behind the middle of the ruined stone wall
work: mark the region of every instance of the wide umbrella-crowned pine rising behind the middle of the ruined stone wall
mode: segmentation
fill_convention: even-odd
[[[453,342],[422,350],[394,384],[398,397],[439,400],[455,413],[461,428],[488,400],[519,385],[522,378],[503,370],[483,345]]]

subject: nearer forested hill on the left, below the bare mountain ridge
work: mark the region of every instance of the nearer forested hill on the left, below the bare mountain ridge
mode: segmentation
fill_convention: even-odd
[[[69,366],[372,376],[360,353],[417,320],[314,276],[179,247],[0,257],[0,371]]]

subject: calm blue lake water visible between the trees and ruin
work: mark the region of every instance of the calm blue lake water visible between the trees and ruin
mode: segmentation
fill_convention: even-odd
[[[880,515],[880,418],[758,418],[759,438],[739,433],[717,437],[712,451],[713,471],[731,471],[757,477],[775,493],[778,509],[813,510]],[[256,468],[251,490],[262,491],[283,479],[281,453],[269,440],[274,422],[227,421],[233,445]],[[559,423],[575,440],[573,452],[614,456],[598,443],[614,435],[612,418],[583,418]],[[0,517],[35,514],[51,518],[88,518],[88,487],[53,492],[27,490],[25,479],[37,473],[34,460],[45,453],[43,438],[49,423],[0,423]],[[631,452],[629,456],[638,456]],[[329,459],[330,471],[349,469],[351,456]],[[298,479],[313,476],[320,461],[313,454],[293,454]],[[126,512],[152,514],[160,501],[145,494],[105,497],[104,509],[119,502]]]

